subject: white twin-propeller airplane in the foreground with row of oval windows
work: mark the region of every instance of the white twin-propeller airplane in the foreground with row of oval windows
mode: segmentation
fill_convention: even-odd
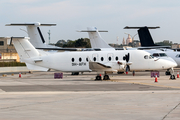
[[[103,79],[107,80],[108,72],[124,71],[127,65],[131,70],[162,70],[177,66],[174,61],[154,58],[142,50],[49,53],[35,49],[28,39],[12,38],[20,60],[44,71],[51,68],[64,72],[104,72]],[[100,80],[101,76],[97,75],[96,79]]]

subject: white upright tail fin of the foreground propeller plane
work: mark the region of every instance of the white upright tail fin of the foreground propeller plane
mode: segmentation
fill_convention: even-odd
[[[20,58],[39,56],[38,50],[29,42],[27,37],[12,37],[14,47]]]

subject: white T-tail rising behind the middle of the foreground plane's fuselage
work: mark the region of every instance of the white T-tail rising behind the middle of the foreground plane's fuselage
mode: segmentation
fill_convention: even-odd
[[[103,40],[99,34],[99,32],[107,31],[98,31],[96,27],[88,27],[87,30],[82,30],[80,32],[88,32],[92,48],[112,48]]]

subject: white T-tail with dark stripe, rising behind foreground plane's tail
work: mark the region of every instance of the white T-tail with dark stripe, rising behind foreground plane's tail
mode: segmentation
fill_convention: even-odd
[[[6,26],[26,26],[27,32],[30,37],[30,42],[35,48],[48,47],[45,43],[44,37],[41,33],[39,26],[55,26],[56,24],[40,24],[37,23],[11,23],[6,24]]]

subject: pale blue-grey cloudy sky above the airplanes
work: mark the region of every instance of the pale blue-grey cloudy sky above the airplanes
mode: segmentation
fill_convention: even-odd
[[[107,43],[121,44],[127,34],[137,30],[125,26],[160,26],[150,30],[155,42],[170,40],[180,43],[180,0],[1,0],[0,36],[28,36],[23,26],[5,26],[9,23],[56,23],[57,26],[41,27],[47,43],[58,40],[88,38],[87,33],[77,32],[87,27],[108,30],[101,33]],[[117,41],[118,37],[118,41]],[[138,35],[134,37],[139,40]]]

